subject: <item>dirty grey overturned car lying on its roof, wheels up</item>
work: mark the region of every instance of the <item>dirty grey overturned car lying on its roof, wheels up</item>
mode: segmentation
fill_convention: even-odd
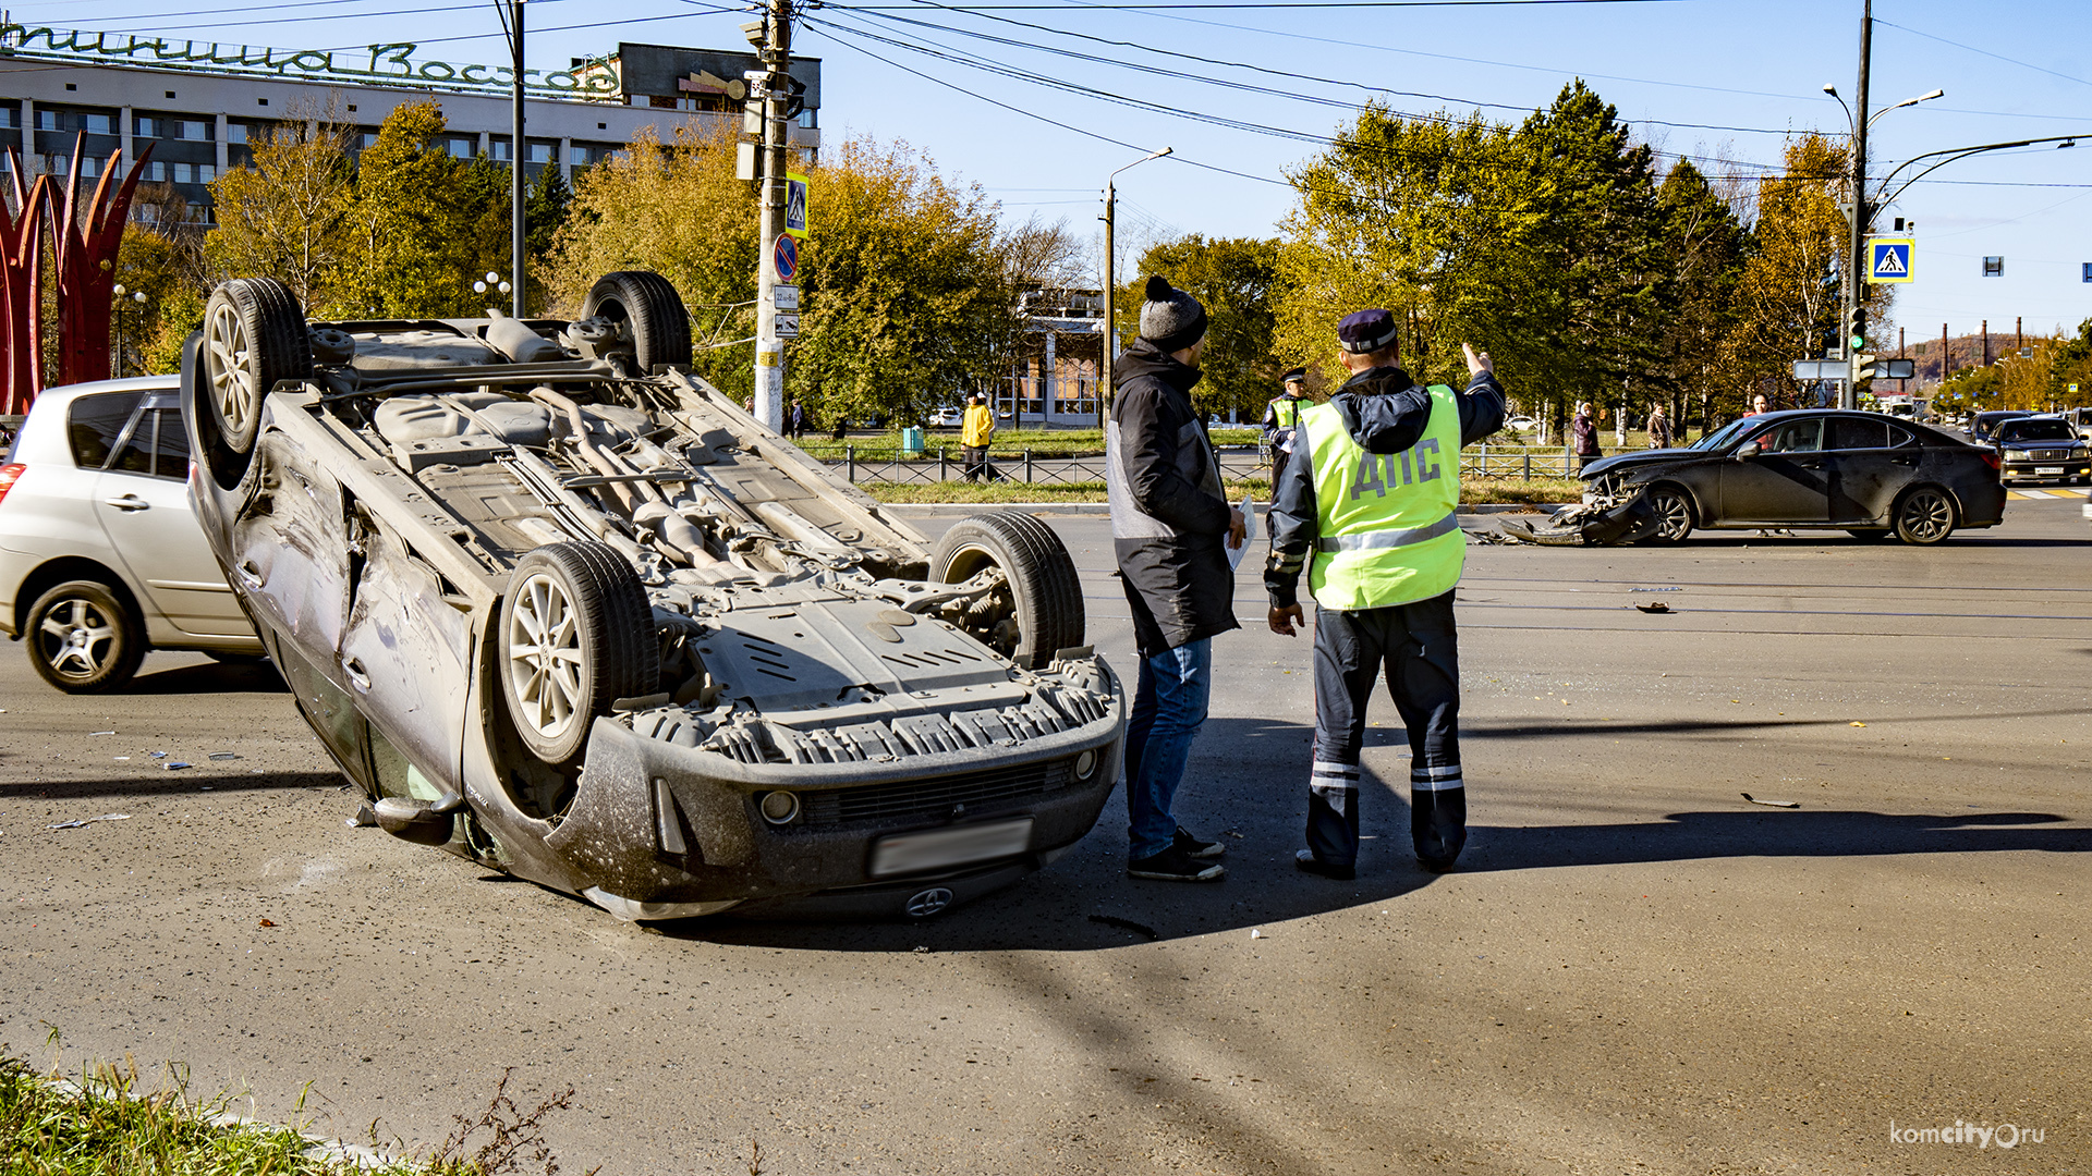
[[[213,291],[197,515],[366,816],[621,919],[925,917],[1073,845],[1125,699],[1059,538],[931,548],[688,362],[646,272],[571,322]]]

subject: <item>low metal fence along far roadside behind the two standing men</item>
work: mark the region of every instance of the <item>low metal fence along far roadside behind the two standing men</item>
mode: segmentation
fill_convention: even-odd
[[[967,477],[958,446],[927,450],[845,446],[841,458],[822,458],[849,483],[937,483]],[[987,462],[994,479],[1036,485],[1069,485],[1105,481],[1105,454],[1036,454],[1033,450],[996,452]],[[1270,477],[1270,450],[1264,446],[1232,446],[1220,450],[1220,473],[1230,481]],[[1561,446],[1469,446],[1460,450],[1460,477],[1502,477],[1529,481],[1533,477],[1575,477],[1577,458]]]

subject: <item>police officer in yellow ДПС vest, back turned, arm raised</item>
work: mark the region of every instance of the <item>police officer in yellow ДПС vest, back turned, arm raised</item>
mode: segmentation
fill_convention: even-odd
[[[1358,862],[1358,745],[1383,672],[1410,732],[1410,837],[1427,870],[1466,843],[1460,776],[1460,657],[1452,590],[1466,536],[1460,448],[1504,425],[1490,354],[1464,347],[1466,391],[1416,387],[1395,366],[1395,318],[1360,310],[1337,324],[1351,379],[1301,410],[1293,460],[1272,496],[1272,632],[1293,636],[1301,565],[1316,598],[1314,766],[1308,847],[1295,864],[1349,879]]]

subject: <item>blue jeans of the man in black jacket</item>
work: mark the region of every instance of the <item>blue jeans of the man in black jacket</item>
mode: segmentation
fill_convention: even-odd
[[[1213,640],[1195,640],[1144,657],[1125,724],[1125,837],[1130,858],[1151,858],[1176,837],[1169,801],[1184,781],[1190,741],[1205,726],[1213,697]]]

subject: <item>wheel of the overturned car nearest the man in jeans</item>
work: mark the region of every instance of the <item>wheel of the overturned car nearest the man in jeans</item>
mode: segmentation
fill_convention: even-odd
[[[1082,584],[1052,527],[1017,511],[960,519],[937,542],[929,578],[964,584],[990,567],[1004,584],[967,611],[969,634],[1025,670],[1044,670],[1054,653],[1082,644]]]

